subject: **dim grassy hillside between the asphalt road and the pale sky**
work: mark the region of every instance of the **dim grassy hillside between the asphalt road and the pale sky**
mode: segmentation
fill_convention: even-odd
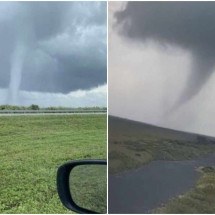
[[[215,152],[208,137],[109,116],[109,173],[153,160],[188,160]]]

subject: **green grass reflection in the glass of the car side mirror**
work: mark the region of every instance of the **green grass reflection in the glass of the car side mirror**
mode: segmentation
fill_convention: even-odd
[[[82,208],[107,212],[107,166],[80,165],[70,173],[70,192],[73,201]]]

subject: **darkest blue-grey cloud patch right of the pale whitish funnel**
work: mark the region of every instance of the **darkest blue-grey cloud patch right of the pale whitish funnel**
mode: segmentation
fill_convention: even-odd
[[[47,59],[50,65],[42,67],[46,71],[45,74],[43,71],[40,72],[40,68],[35,69],[29,65],[29,68],[25,68],[23,77],[26,80],[34,81],[23,81],[21,86],[29,91],[38,91],[39,87],[40,91],[49,89],[51,92],[70,92],[71,89],[89,89],[99,83],[103,84],[106,81],[105,62],[94,55],[88,56],[89,53],[86,51],[82,55],[76,55],[76,53],[75,55],[57,56],[57,61],[54,62],[52,62],[52,58]],[[105,56],[103,57],[105,59]],[[37,67],[37,65],[35,66]],[[29,73],[29,69],[36,71]],[[56,82],[49,81],[52,79]]]

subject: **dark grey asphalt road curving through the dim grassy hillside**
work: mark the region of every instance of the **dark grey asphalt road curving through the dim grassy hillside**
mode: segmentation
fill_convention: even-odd
[[[144,167],[109,175],[109,213],[150,213],[192,188],[199,166],[215,165],[215,155],[189,161],[153,161]]]

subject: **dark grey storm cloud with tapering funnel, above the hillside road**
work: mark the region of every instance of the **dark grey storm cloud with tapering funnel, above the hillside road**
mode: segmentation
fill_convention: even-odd
[[[124,36],[178,46],[192,54],[192,72],[175,107],[196,96],[213,72],[214,11],[215,2],[128,2],[115,14]]]

